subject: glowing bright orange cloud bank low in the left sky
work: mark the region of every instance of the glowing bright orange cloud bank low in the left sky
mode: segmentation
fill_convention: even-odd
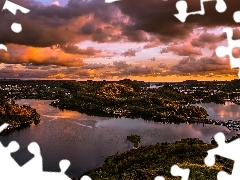
[[[8,52],[0,51],[0,62],[6,64],[35,64],[35,65],[59,65],[59,66],[82,66],[83,59],[92,57],[109,56],[91,47],[86,49],[66,49],[58,47],[37,48],[23,45],[8,45]],[[71,51],[76,51],[75,53]]]

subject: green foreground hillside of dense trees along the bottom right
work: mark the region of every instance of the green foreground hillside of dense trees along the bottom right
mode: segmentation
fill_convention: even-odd
[[[181,168],[190,169],[190,180],[215,180],[221,170],[231,173],[233,162],[217,156],[215,165],[207,167],[204,158],[207,150],[214,147],[216,146],[199,139],[139,147],[107,157],[101,167],[84,175],[89,175],[94,180],[153,180],[156,176],[177,180],[180,177],[170,174],[171,166],[177,164]]]

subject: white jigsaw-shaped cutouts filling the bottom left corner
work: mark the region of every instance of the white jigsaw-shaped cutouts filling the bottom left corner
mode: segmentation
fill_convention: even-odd
[[[8,124],[0,126],[0,132],[8,127]],[[41,156],[41,150],[36,142],[32,142],[28,145],[28,151],[34,155],[34,157],[28,161],[22,167],[12,158],[11,153],[19,150],[19,144],[12,141],[8,147],[4,147],[0,143],[0,169],[1,179],[24,179],[24,180],[43,180],[43,179],[57,179],[57,180],[71,180],[66,174],[66,170],[70,166],[68,160],[61,160],[59,163],[60,172],[44,172],[43,171],[43,159]],[[89,176],[83,176],[81,180],[91,180]]]

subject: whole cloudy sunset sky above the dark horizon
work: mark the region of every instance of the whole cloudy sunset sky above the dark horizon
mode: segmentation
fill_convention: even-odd
[[[205,15],[177,14],[177,0],[11,0],[30,10],[0,14],[0,78],[120,80],[152,82],[237,79],[229,57],[215,50],[227,46],[225,27],[240,39],[233,13],[238,0],[205,2]],[[200,0],[187,0],[188,12]],[[3,7],[4,1],[0,2]],[[11,31],[13,22],[22,25]],[[240,57],[240,49],[233,49]]]

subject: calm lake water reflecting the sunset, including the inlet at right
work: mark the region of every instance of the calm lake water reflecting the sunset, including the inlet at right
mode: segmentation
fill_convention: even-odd
[[[126,137],[133,134],[141,136],[140,145],[155,144],[157,142],[175,142],[182,138],[199,138],[210,142],[210,138],[218,132],[223,132],[227,138],[237,134],[223,126],[203,124],[162,124],[144,121],[142,119],[106,118],[81,114],[49,106],[49,100],[20,100],[20,105],[31,105],[41,115],[41,123],[29,129],[14,132],[0,137],[7,146],[15,140],[20,150],[13,154],[15,160],[25,164],[32,158],[27,146],[32,141],[41,147],[44,171],[60,171],[59,161],[68,159],[71,166],[68,175],[78,176],[86,170],[99,167],[104,159],[117,152],[124,152],[132,148]],[[226,103],[201,104],[214,119],[238,119],[240,106]]]

